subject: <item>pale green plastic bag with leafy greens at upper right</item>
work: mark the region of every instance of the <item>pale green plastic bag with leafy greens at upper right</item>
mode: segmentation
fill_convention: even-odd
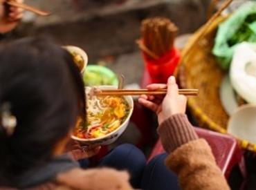
[[[228,70],[235,46],[243,41],[256,42],[256,2],[245,3],[219,25],[212,53],[221,68]]]

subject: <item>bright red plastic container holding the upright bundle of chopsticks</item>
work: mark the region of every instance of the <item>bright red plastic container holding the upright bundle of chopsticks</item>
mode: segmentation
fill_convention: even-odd
[[[172,48],[170,52],[159,59],[152,59],[143,53],[145,68],[147,69],[152,83],[166,83],[167,79],[174,73],[180,60],[179,50]]]

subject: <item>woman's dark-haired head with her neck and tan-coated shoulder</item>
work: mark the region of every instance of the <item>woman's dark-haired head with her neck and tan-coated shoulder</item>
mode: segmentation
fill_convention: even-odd
[[[46,39],[21,39],[1,48],[0,63],[0,187],[89,189],[95,182],[97,189],[102,173],[115,179],[109,189],[129,187],[125,172],[84,171],[62,155],[78,115],[85,115],[84,84],[66,50]]]

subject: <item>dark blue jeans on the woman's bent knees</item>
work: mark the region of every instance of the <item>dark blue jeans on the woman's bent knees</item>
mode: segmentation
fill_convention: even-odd
[[[122,144],[109,152],[98,167],[111,167],[127,170],[131,176],[130,182],[134,188],[178,190],[176,175],[165,166],[167,154],[156,155],[148,164],[140,149],[131,144]],[[89,160],[81,160],[82,168],[89,167]]]

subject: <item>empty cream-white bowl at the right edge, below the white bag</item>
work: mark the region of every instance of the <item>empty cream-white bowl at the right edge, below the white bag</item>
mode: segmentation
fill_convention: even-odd
[[[230,117],[228,133],[241,140],[256,144],[256,105],[241,106]]]

